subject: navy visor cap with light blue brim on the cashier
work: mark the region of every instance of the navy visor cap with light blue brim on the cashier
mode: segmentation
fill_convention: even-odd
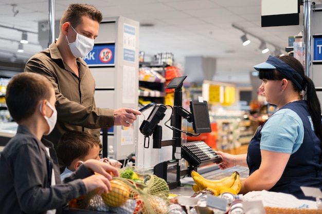
[[[287,76],[289,80],[297,85],[297,87],[299,87],[301,90],[303,89],[303,78],[301,77],[301,75],[296,70],[294,70],[294,68],[284,63],[275,56],[270,55],[266,62],[255,65],[254,68],[258,71],[261,69],[277,69],[279,72]]]

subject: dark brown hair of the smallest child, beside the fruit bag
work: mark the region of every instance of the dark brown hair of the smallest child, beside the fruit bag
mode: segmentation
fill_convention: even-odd
[[[85,158],[94,145],[99,146],[99,142],[92,134],[83,131],[67,131],[58,141],[57,155],[66,166],[69,166],[75,159]]]

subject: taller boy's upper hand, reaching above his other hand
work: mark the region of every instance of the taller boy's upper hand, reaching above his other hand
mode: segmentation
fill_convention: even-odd
[[[104,176],[105,178],[108,178],[109,180],[112,180],[113,176],[119,177],[119,171],[117,168],[112,166],[109,163],[100,162],[98,160],[90,159],[83,163],[88,169],[91,169],[94,172],[97,172]]]

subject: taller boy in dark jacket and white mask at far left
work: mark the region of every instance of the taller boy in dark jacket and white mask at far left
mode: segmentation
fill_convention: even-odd
[[[55,102],[53,86],[40,74],[19,73],[7,86],[8,110],[19,126],[0,157],[0,213],[56,213],[89,191],[108,192],[109,180],[119,176],[110,164],[87,160],[61,183],[53,144],[42,139],[55,126]]]

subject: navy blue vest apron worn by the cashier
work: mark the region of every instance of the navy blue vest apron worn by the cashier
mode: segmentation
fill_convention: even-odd
[[[280,180],[270,191],[293,194],[298,199],[315,200],[312,197],[305,197],[300,186],[322,187],[320,141],[311,128],[306,101],[292,102],[281,109],[284,108],[291,109],[300,116],[304,126],[304,139],[299,149],[291,154]],[[269,123],[269,120],[266,122]],[[265,123],[262,126],[265,126]],[[249,175],[257,170],[261,163],[260,129],[261,127],[257,129],[248,146],[247,165]]]

